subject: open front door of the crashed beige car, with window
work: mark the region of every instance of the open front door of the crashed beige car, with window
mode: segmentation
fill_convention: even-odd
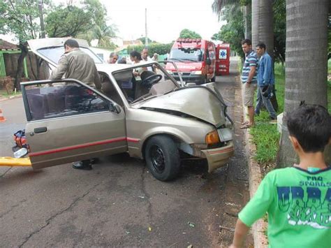
[[[34,169],[127,151],[124,110],[78,80],[22,82]]]

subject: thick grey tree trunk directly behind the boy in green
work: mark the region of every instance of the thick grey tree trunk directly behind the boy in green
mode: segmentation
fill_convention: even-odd
[[[277,167],[297,163],[288,139],[288,113],[300,101],[328,104],[327,57],[328,0],[286,0],[286,89]]]

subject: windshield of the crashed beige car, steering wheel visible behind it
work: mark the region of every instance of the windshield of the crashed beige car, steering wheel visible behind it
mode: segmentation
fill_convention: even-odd
[[[175,79],[159,64],[139,65],[112,73],[128,103],[134,104],[166,94],[179,86]],[[109,89],[109,91],[108,91]],[[112,94],[112,89],[104,85],[103,92]]]

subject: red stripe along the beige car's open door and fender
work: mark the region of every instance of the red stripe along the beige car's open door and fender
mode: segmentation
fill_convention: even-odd
[[[92,146],[92,145],[103,145],[103,144],[109,144],[109,143],[124,141],[124,140],[127,140],[128,142],[133,142],[133,143],[138,143],[139,142],[139,140],[135,139],[135,138],[126,138],[126,137],[112,138],[110,140],[101,140],[101,141],[85,143],[85,144],[81,144],[81,145],[72,145],[70,147],[49,149],[47,151],[42,151],[42,152],[31,152],[29,154],[29,156],[41,156],[41,155],[47,155],[47,154],[52,154],[52,153],[57,153],[57,152],[66,152],[66,151],[69,151],[71,149],[80,149],[80,148],[89,147],[89,146]]]

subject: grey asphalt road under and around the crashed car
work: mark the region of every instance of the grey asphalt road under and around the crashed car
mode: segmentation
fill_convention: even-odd
[[[231,69],[216,85],[239,126],[234,62]],[[0,101],[0,109],[7,119],[0,123],[0,156],[11,156],[13,133],[26,121],[22,99]],[[227,166],[205,175],[203,163],[183,161],[172,182],[155,180],[143,161],[126,154],[101,158],[91,171],[0,167],[1,247],[227,247],[227,228],[249,197],[242,137],[236,128]]]

